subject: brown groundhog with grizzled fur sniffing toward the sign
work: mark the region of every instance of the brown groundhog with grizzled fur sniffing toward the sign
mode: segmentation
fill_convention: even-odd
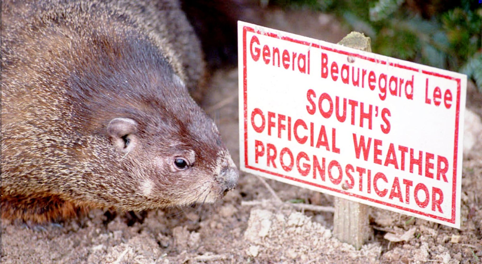
[[[200,42],[176,0],[2,0],[1,216],[212,202],[238,170],[189,95]]]

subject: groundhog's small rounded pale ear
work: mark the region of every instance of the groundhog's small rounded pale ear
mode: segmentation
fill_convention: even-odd
[[[112,144],[121,152],[129,152],[134,149],[137,138],[135,131],[137,122],[130,118],[114,118],[107,125],[107,134],[112,140]]]

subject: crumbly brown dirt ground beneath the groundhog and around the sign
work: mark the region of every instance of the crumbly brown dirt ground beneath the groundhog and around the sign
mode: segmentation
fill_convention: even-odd
[[[326,14],[270,11],[263,25],[338,42],[347,33]],[[376,51],[376,50],[375,50]],[[204,108],[239,161],[238,70],[214,73]],[[482,95],[469,83],[467,107],[480,123]],[[332,236],[333,213],[276,202],[333,206],[333,197],[241,173],[239,187],[215,204],[148,212],[144,221],[101,210],[61,225],[1,223],[2,263],[481,263],[482,143],[464,155],[461,228],[371,209],[373,236],[355,250]],[[479,134],[477,134],[479,133]],[[329,210],[328,210],[329,211]],[[142,218],[137,215],[137,218]],[[387,233],[405,234],[390,242]]]

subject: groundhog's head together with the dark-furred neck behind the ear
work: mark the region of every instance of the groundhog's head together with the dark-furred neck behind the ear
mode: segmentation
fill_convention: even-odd
[[[92,38],[68,88],[72,116],[103,145],[91,155],[105,164],[89,179],[105,192],[89,200],[139,210],[212,202],[233,189],[238,170],[217,127],[161,50],[128,33]]]

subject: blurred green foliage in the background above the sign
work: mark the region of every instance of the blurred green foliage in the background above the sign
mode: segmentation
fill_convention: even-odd
[[[265,0],[268,1],[268,0]],[[477,0],[271,0],[335,13],[390,57],[462,72],[482,92],[482,8]]]

